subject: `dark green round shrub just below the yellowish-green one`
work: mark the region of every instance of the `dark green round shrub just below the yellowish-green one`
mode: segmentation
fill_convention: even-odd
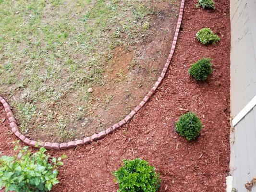
[[[211,66],[211,58],[203,58],[193,63],[188,72],[197,81],[205,81],[207,77],[213,72]]]

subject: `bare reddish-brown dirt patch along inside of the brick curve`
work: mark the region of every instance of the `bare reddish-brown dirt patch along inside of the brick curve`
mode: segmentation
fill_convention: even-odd
[[[133,48],[116,48],[104,73],[104,86],[93,87],[94,104],[85,135],[105,130],[122,120],[154,85],[170,52],[177,19],[168,3],[159,3],[150,37]],[[159,11],[160,10],[160,11]],[[176,12],[176,9],[175,9]],[[93,107],[92,107],[93,108]]]

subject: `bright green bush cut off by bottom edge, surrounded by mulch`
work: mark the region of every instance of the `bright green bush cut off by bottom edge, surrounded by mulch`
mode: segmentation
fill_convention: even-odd
[[[153,166],[140,158],[123,160],[123,166],[114,172],[118,192],[157,192],[161,180]]]

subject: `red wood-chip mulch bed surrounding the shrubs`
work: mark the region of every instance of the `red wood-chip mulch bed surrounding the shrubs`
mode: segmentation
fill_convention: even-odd
[[[230,17],[229,1],[216,0],[215,11],[195,8],[186,0],[183,30],[167,72],[157,93],[128,125],[97,143],[66,151],[60,168],[61,183],[53,192],[116,192],[112,171],[122,159],[141,157],[160,172],[161,192],[224,192],[229,172],[230,117]],[[195,33],[210,27],[221,41],[200,45]],[[171,48],[171,47],[170,47]],[[188,75],[191,63],[212,57],[213,75],[197,83]],[[205,125],[197,141],[188,142],[174,130],[174,122],[185,110],[198,114]],[[3,118],[3,109],[0,109]],[[7,120],[0,125],[0,150],[11,154],[14,135]]]

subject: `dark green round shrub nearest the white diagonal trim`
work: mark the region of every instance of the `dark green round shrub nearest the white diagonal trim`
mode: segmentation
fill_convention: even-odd
[[[175,128],[176,132],[187,140],[194,140],[202,130],[202,123],[195,113],[187,112],[175,123]]]

